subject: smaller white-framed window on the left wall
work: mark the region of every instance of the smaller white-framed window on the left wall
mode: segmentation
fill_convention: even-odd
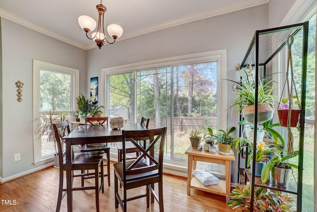
[[[78,88],[75,91],[76,84],[78,87],[78,72],[66,67],[33,61],[34,132],[37,131],[38,126],[43,126],[50,120],[50,113],[53,112],[51,117],[58,119],[62,112],[66,120],[72,120],[78,95]],[[56,151],[48,135],[34,135],[33,144],[35,164],[51,158]]]

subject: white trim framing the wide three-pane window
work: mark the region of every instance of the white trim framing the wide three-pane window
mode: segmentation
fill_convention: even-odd
[[[107,93],[107,86],[106,86],[106,76],[112,74],[119,74],[125,72],[135,72],[135,70],[144,70],[153,67],[167,67],[167,66],[178,66],[182,64],[191,64],[191,63],[204,63],[204,62],[211,62],[217,61],[217,83],[218,83],[218,96],[224,97],[221,98],[221,101],[218,102],[217,108],[218,116],[221,119],[217,119],[217,126],[219,129],[227,129],[227,111],[222,110],[221,108],[227,108],[227,81],[223,80],[227,78],[227,51],[226,49],[223,50],[216,50],[210,52],[203,52],[203,53],[196,53],[190,55],[183,55],[183,56],[176,56],[171,58],[163,58],[158,60],[151,60],[151,61],[144,61],[134,64],[128,64],[123,66],[117,67],[110,67],[102,69],[101,71],[101,102],[107,108],[107,101],[106,101],[106,93]],[[104,93],[103,93],[104,92]],[[169,160],[166,161],[167,163],[170,162]],[[171,164],[171,163],[169,163]],[[176,160],[173,159],[173,165],[178,166],[187,166],[187,162],[184,160]]]

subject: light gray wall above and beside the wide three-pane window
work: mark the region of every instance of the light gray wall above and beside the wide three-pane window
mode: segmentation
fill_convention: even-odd
[[[268,5],[265,4],[123,40],[101,50],[89,50],[88,79],[101,77],[103,68],[220,49],[227,49],[228,78],[237,79],[234,67],[242,62],[255,30],[267,28],[267,14]],[[228,83],[228,105],[233,102],[231,86]],[[236,126],[238,121],[239,118],[231,117],[228,111],[228,128]],[[234,182],[237,166],[235,161],[232,166]]]

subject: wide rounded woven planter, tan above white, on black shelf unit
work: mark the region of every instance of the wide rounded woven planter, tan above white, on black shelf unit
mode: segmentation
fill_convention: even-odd
[[[254,108],[255,105],[247,105],[245,106],[242,114],[243,118],[251,124],[254,124]],[[268,120],[271,120],[272,118],[272,107],[267,102],[258,104],[258,124],[262,124]]]

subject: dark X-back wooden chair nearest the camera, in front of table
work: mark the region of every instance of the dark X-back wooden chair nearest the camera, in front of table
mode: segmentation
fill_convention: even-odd
[[[154,199],[159,203],[159,211],[163,212],[163,153],[166,138],[166,127],[159,129],[125,131],[122,130],[123,158],[122,162],[113,164],[114,166],[114,196],[115,209],[119,204],[123,212],[127,212],[127,202],[146,197],[147,208],[150,207]],[[148,140],[146,149],[139,145],[139,140]],[[127,160],[125,143],[132,142],[141,154],[136,160]],[[156,153],[157,155],[154,155]],[[118,192],[118,181],[123,187],[123,198]],[[154,191],[154,184],[159,184],[159,196]],[[146,194],[127,198],[127,190],[146,186]],[[120,191],[121,193],[122,191]],[[135,194],[135,191],[133,192]]]

